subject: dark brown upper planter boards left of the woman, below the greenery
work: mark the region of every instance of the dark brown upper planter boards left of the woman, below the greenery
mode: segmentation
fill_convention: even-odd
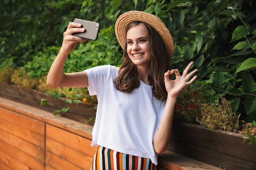
[[[55,100],[53,97],[49,98],[45,93],[28,90],[20,86],[5,84],[0,82],[0,97],[11,99],[22,104],[27,104],[35,108],[40,108],[42,110],[49,111],[51,113],[54,110],[61,110],[63,107],[69,107],[70,104],[63,102],[62,99]],[[41,99],[48,99],[48,103],[44,106],[40,106]],[[95,117],[94,108],[97,105],[86,105],[86,104],[75,104],[70,107],[67,113],[64,113],[62,116],[67,117],[72,120],[82,122],[84,124],[93,125],[93,121],[88,121],[91,117]]]

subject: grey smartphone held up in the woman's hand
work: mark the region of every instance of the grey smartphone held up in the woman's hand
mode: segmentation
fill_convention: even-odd
[[[100,26],[98,22],[81,20],[78,18],[75,18],[74,22],[82,24],[81,28],[84,28],[85,32],[74,33],[73,35],[76,35],[81,38],[86,38],[88,40],[97,40],[98,34],[99,34],[99,26]]]

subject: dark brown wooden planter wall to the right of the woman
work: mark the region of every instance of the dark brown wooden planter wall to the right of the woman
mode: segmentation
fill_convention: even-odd
[[[226,170],[256,170],[256,144],[243,143],[243,135],[189,123],[173,128],[168,150]]]

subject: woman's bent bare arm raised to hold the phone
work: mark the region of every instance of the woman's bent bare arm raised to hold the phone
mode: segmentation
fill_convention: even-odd
[[[61,50],[55,58],[47,75],[47,84],[56,87],[87,87],[88,77],[85,71],[77,73],[63,73],[63,68],[67,56],[76,47],[78,42],[86,42],[84,38],[72,35],[76,32],[84,32],[85,29],[80,28],[81,24],[70,22],[67,30],[63,33],[63,42]]]

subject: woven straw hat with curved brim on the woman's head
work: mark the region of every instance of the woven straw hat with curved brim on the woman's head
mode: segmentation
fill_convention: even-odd
[[[126,44],[126,27],[133,21],[145,22],[146,24],[152,26],[164,40],[164,44],[170,58],[173,56],[173,38],[169,30],[166,28],[164,22],[162,22],[162,20],[157,16],[143,11],[128,11],[117,18],[115,24],[115,33],[122,49],[124,49]]]

